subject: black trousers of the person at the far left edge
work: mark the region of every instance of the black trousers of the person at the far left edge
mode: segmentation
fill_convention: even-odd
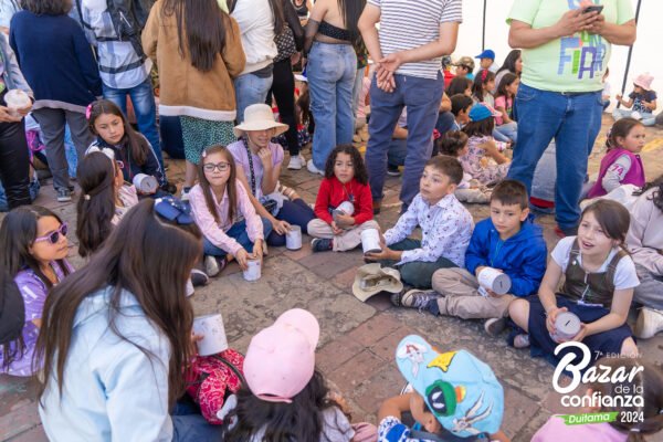
[[[30,204],[30,155],[24,123],[0,123],[0,180],[9,210]]]

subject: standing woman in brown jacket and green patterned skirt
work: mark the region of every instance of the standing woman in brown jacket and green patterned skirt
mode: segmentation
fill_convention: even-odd
[[[150,11],[143,48],[159,69],[159,114],[180,117],[185,198],[196,181],[200,152],[235,140],[233,78],[246,60],[240,29],[217,0],[164,0]]]

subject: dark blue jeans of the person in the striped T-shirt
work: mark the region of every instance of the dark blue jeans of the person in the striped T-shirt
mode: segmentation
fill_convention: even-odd
[[[403,106],[408,106],[408,152],[403,171],[400,200],[409,204],[419,193],[419,180],[425,161],[433,151],[433,129],[442,101],[444,80],[420,78],[397,74],[396,90],[387,93],[373,81],[370,85],[370,122],[366,166],[373,201],[382,199],[387,173],[387,151],[391,144],[393,127]],[[316,129],[318,122],[316,120]]]

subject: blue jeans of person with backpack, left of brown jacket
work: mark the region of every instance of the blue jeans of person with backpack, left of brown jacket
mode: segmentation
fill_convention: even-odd
[[[157,159],[164,169],[164,157],[161,155],[161,144],[159,141],[159,130],[157,128],[157,105],[155,103],[155,93],[151,88],[149,75],[143,83],[127,90],[108,87],[104,84],[104,98],[115,103],[122,112],[127,115],[127,95],[131,97],[134,113],[138,123],[138,130],[147,138],[157,154]]]

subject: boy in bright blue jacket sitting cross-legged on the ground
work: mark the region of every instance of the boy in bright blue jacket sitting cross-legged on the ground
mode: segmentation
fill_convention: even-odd
[[[537,293],[548,255],[539,225],[534,224],[525,186],[504,180],[491,197],[491,218],[476,224],[465,253],[465,269],[441,269],[433,274],[432,291],[412,290],[401,305],[428,309],[434,315],[463,319],[487,318],[485,329],[497,335],[506,324],[508,304]],[[486,267],[511,278],[508,294],[481,287],[478,274]]]

